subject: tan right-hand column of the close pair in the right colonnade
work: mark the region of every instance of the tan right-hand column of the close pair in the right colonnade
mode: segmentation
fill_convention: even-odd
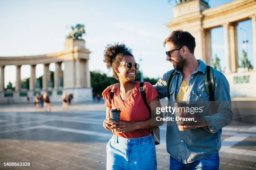
[[[237,25],[233,23],[229,26],[229,43],[230,43],[230,59],[231,71],[236,72],[238,69],[238,48],[237,48]]]

